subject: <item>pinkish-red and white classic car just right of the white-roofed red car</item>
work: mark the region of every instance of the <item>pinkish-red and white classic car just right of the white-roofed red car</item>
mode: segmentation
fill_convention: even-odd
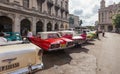
[[[60,33],[64,38],[73,40],[76,45],[85,42],[85,39],[82,36],[76,34],[74,31],[58,31],[58,33]]]

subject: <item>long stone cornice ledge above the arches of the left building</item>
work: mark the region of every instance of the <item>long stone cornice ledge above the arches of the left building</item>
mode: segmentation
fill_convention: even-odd
[[[0,9],[5,10],[5,11],[9,11],[9,12],[16,12],[16,13],[26,14],[26,15],[36,16],[36,17],[43,17],[43,18],[46,18],[46,19],[55,19],[55,20],[58,20],[58,21],[63,21],[63,22],[68,23],[67,19],[50,16],[48,14],[40,13],[39,11],[35,10],[34,8],[33,9],[28,8],[27,9],[27,8],[24,8],[23,6],[16,5],[16,4],[0,3]]]

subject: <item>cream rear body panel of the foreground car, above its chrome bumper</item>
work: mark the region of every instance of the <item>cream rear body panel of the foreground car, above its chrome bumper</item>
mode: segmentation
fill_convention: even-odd
[[[34,65],[37,49],[40,48],[32,43],[0,46],[0,74],[27,67],[29,64]],[[7,69],[11,65],[14,67]]]

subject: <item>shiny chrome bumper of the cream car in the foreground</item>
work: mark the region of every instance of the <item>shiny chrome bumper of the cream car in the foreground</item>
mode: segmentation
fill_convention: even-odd
[[[39,70],[39,69],[42,69],[43,68],[43,63],[42,64],[39,64],[39,65],[33,65],[31,66],[31,70],[34,71],[34,70]],[[25,67],[25,68],[22,68],[22,69],[19,69],[19,70],[16,70],[14,72],[10,72],[8,74],[27,74],[31,72],[28,67]]]

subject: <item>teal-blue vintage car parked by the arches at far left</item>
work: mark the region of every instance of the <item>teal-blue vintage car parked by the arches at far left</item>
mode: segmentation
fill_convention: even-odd
[[[8,41],[22,40],[22,37],[18,32],[5,32],[5,38]]]

